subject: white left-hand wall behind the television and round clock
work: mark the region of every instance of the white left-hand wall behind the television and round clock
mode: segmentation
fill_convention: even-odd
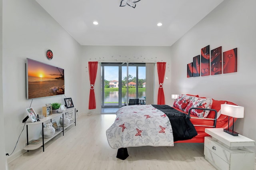
[[[65,96],[72,97],[74,105],[79,109],[82,97],[77,82],[80,81],[81,73],[77,65],[81,46],[34,0],[3,0],[2,32],[4,137],[5,151],[10,154],[22,131],[22,119],[26,117],[26,108],[29,108],[31,103],[31,100],[26,100],[26,57],[63,68]],[[47,49],[53,51],[52,60],[46,58]],[[64,104],[65,96],[34,99],[31,107],[42,115],[45,103]],[[37,127],[30,127],[30,132],[33,128]],[[40,136],[40,126],[35,131],[30,139]],[[25,151],[25,143],[26,127],[14,155]]]

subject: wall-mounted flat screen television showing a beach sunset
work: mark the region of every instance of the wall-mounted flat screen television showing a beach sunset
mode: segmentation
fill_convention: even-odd
[[[64,95],[64,69],[26,59],[27,99]]]

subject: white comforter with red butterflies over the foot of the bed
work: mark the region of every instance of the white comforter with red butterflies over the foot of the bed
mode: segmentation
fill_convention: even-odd
[[[174,146],[169,118],[152,105],[120,108],[106,135],[111,148]]]

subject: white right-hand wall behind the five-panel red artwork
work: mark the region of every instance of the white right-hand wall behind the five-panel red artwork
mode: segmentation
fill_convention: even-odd
[[[256,140],[255,46],[256,1],[225,0],[171,47],[172,94],[191,93],[244,106],[244,119],[235,130]],[[222,46],[222,52],[238,48],[236,73],[186,78],[186,66],[200,49]]]

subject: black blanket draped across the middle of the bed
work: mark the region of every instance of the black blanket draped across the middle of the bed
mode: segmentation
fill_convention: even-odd
[[[187,114],[177,111],[168,105],[152,106],[164,112],[170,119],[174,142],[178,140],[191,139],[197,135],[196,129]]]

